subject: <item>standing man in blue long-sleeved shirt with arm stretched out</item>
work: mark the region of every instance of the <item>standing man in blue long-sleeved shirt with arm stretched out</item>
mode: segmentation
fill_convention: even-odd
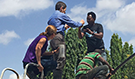
[[[84,24],[84,20],[82,19],[80,22],[75,22],[71,20],[65,13],[66,13],[67,5],[62,2],[58,1],[55,5],[55,12],[49,18],[48,25],[54,25],[57,28],[57,34],[50,41],[50,46],[52,50],[55,50],[59,47],[60,44],[65,45],[64,41],[64,31],[70,27],[81,27]],[[64,53],[64,52],[63,52]],[[61,79],[62,77],[62,70],[65,65],[65,59],[59,58],[59,53],[54,54],[54,60],[57,61],[57,68],[53,71],[53,79]]]

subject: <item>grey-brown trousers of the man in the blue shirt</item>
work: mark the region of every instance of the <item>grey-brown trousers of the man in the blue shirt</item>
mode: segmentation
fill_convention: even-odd
[[[51,41],[50,46],[52,50],[55,50],[59,47],[60,44],[65,45],[64,36],[61,33],[58,33]],[[53,70],[53,79],[61,79],[62,78],[62,72],[65,65],[66,57],[65,58],[59,58],[59,53],[54,54],[53,58],[55,61],[57,61],[57,67]]]

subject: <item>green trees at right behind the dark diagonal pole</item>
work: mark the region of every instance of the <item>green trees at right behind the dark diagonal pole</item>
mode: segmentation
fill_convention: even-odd
[[[111,46],[110,46],[110,56],[108,55],[108,62],[115,69],[124,60],[126,60],[130,55],[133,54],[132,45],[129,46],[127,42],[122,46],[122,40],[117,34],[112,35]],[[135,78],[135,58],[129,60],[125,65],[123,65],[111,79],[134,79]]]

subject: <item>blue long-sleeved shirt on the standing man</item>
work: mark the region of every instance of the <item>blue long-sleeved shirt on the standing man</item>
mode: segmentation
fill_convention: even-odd
[[[80,27],[82,23],[75,22],[71,20],[66,14],[56,10],[52,16],[49,18],[48,25],[54,25],[57,28],[57,32],[62,32],[63,35],[65,29],[65,24],[69,25],[70,27]]]

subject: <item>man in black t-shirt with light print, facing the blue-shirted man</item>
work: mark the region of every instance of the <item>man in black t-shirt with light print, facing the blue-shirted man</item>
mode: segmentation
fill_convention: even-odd
[[[94,12],[87,13],[87,25],[83,28],[79,27],[78,37],[82,39],[86,37],[87,53],[93,52],[95,49],[100,49],[101,56],[107,60],[105,47],[103,42],[103,26],[99,23],[95,23],[96,14]],[[86,54],[87,54],[86,53]]]

